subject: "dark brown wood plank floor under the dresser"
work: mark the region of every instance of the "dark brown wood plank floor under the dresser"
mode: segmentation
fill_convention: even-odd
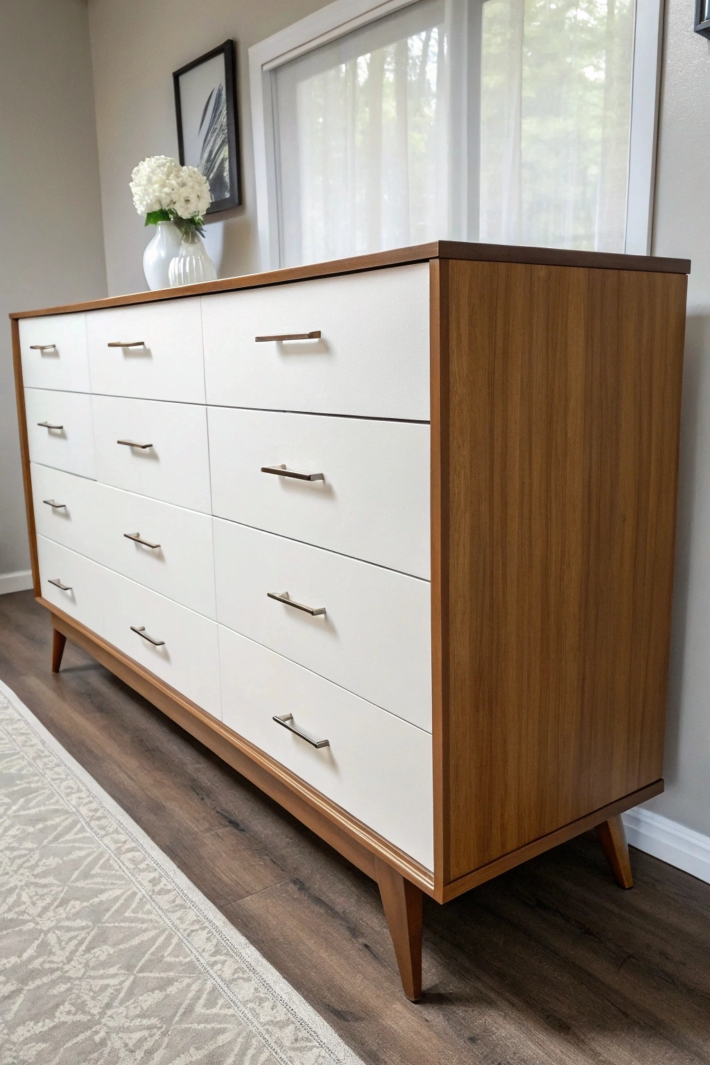
[[[446,906],[401,995],[377,888],[83,652],[0,596],[0,677],[366,1063],[710,1062],[710,886],[582,836]]]

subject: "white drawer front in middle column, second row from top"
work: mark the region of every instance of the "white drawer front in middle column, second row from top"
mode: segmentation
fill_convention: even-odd
[[[209,513],[210,462],[204,407],[92,396],[97,479]],[[150,447],[129,447],[128,440]]]

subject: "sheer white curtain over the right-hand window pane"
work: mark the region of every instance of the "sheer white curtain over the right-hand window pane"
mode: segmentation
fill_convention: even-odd
[[[485,0],[480,240],[623,251],[633,0]]]

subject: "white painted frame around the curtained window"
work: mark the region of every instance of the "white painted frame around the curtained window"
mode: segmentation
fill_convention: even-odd
[[[334,0],[249,49],[257,222],[263,271],[278,269],[282,265],[275,135],[276,69],[304,52],[411,3],[416,3],[416,0]],[[629,255],[649,255],[651,246],[663,4],[664,0],[637,0],[625,243],[625,251]],[[447,0],[447,19],[465,18],[466,6],[467,0]],[[466,36],[469,33],[475,35],[476,31],[476,27],[467,29]],[[455,36],[455,39],[461,37]],[[452,56],[452,62],[456,62],[456,56]],[[451,211],[458,231],[466,234],[468,240],[475,240],[478,220],[470,215],[475,207],[473,201],[478,198],[473,184],[478,174],[478,115],[468,115],[464,104],[457,122],[462,132],[469,134],[457,138],[459,144],[469,145],[467,160],[458,161],[458,173],[465,176],[470,170],[472,181],[464,180],[462,187],[453,189]]]

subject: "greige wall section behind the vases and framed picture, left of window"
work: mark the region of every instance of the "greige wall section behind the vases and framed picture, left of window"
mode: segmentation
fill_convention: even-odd
[[[243,207],[220,218],[220,275],[259,269],[247,49],[326,0],[89,0],[96,120],[109,292],[146,288],[143,250],[153,234],[135,213],[128,183],[146,155],[178,155],[172,71],[236,42]]]

